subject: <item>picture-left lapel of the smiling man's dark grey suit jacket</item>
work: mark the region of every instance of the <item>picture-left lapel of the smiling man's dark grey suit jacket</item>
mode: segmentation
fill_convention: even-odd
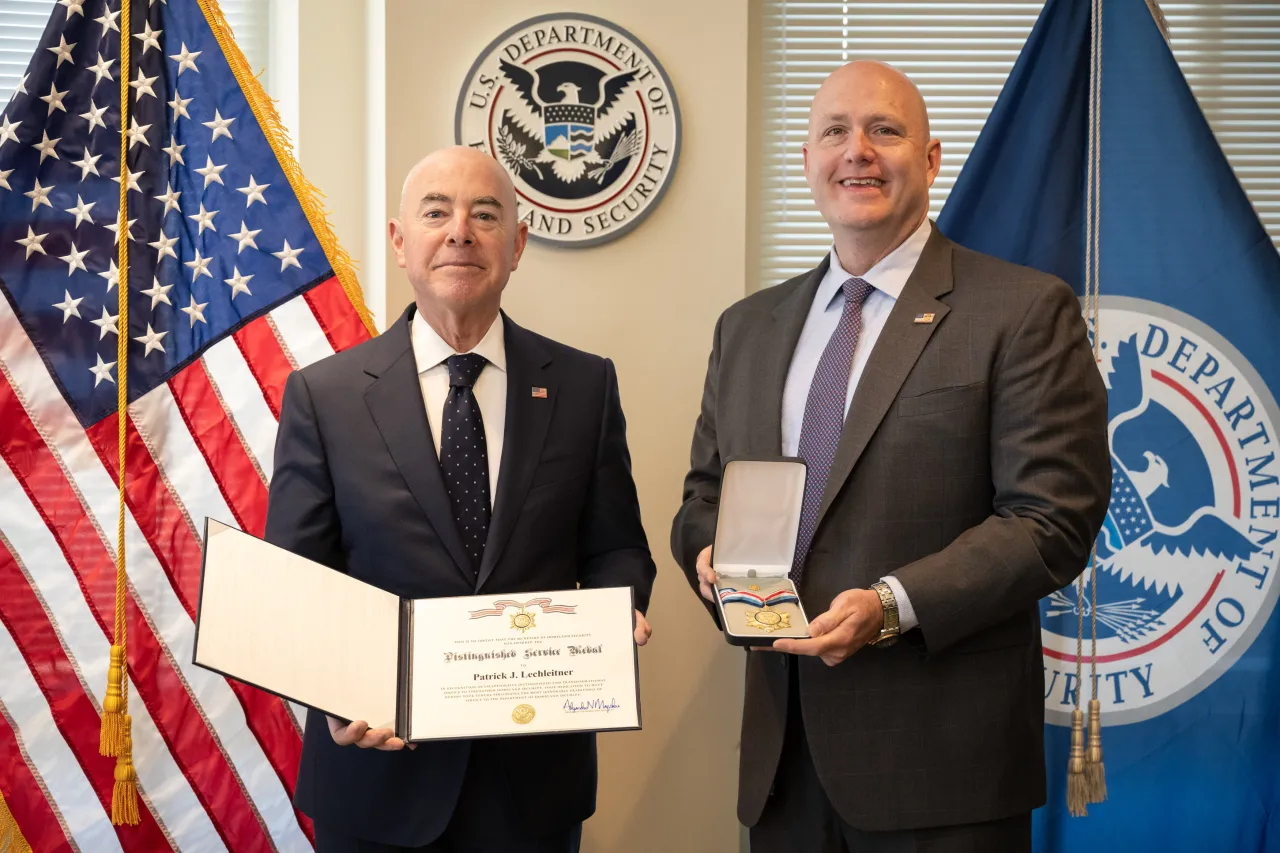
[[[759,378],[758,393],[751,394],[750,424],[753,456],[777,456],[782,452],[782,392],[791,368],[791,355],[795,352],[804,321],[809,316],[818,284],[822,283],[831,266],[831,254],[809,273],[799,287],[791,291],[773,309],[773,328],[763,336],[755,348],[755,375]]]

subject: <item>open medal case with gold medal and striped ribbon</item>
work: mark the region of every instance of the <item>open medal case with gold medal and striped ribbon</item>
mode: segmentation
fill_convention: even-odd
[[[712,567],[721,625],[733,646],[809,637],[809,620],[788,578],[806,470],[804,460],[792,457],[724,464]]]

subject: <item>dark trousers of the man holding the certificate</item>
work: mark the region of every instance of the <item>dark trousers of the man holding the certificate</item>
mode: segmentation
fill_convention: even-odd
[[[471,744],[458,804],[444,834],[426,847],[394,847],[326,830],[316,821],[316,853],[579,853],[582,825],[534,835],[511,799],[511,788],[492,742]]]

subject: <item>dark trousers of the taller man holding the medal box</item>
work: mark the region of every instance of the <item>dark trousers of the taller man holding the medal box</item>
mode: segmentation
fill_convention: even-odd
[[[1032,816],[986,824],[869,833],[841,820],[813,768],[800,716],[797,670],[790,674],[787,733],[773,793],[751,827],[755,853],[1030,853]]]

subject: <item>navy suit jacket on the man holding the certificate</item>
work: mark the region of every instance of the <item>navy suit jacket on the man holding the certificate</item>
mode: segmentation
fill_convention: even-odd
[[[410,598],[630,585],[644,611],[655,567],[613,364],[503,314],[507,425],[476,575],[426,419],[410,345],[413,310],[380,337],[289,377],[266,539]],[[535,387],[545,398],[532,396]],[[399,752],[338,747],[324,715],[311,711],[296,803],[334,831],[420,847],[447,826],[468,752],[467,740]],[[527,825],[553,831],[595,811],[594,735],[511,738],[502,752]]]

